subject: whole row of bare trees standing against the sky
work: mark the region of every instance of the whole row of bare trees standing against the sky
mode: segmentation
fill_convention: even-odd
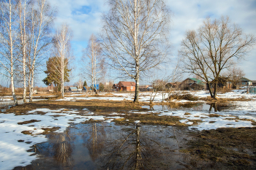
[[[103,15],[100,40],[92,34],[84,50],[83,61],[88,65],[83,70],[91,84],[96,85],[104,79],[108,61],[111,69],[135,80],[134,101],[138,101],[140,77],[167,61],[170,54],[170,10],[164,0],[109,0],[108,4],[110,11]],[[65,72],[72,57],[72,32],[63,25],[55,36],[50,36],[55,15],[47,0],[1,1],[0,73],[10,79],[16,104],[15,77],[23,82],[24,102],[27,85],[32,101],[34,74],[51,44],[51,54],[58,64],[51,64],[50,72],[56,75],[52,78],[59,81],[64,96],[64,82],[69,79]],[[202,78],[215,98],[223,70],[232,68],[253,45],[255,36],[244,34],[229,18],[208,18],[197,31],[187,31],[180,55],[186,72]]]

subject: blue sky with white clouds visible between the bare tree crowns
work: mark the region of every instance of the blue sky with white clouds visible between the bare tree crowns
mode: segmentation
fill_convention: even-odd
[[[58,8],[55,28],[61,23],[67,23],[73,31],[72,47],[74,49],[75,71],[72,85],[78,81],[80,56],[86,47],[91,34],[99,34],[103,12],[108,12],[105,0],[50,0]],[[172,11],[170,42],[172,43],[172,58],[177,57],[181,40],[186,31],[197,29],[206,17],[220,18],[228,15],[232,23],[238,24],[246,34],[256,33],[256,1],[255,0],[167,0],[166,4]],[[255,34],[256,35],[256,34]],[[256,80],[256,48],[245,56],[246,60],[238,64],[244,70],[246,77]],[[40,80],[37,85],[43,85]]]

